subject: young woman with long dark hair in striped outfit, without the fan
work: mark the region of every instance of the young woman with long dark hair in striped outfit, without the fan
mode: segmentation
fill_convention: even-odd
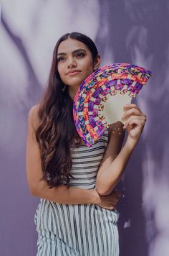
[[[146,116],[127,104],[124,126],[112,124],[92,147],[84,145],[74,126],[73,99],[100,61],[89,37],[63,35],[54,48],[44,97],[29,111],[26,175],[30,193],[41,198],[34,217],[37,255],[119,255],[115,186]]]

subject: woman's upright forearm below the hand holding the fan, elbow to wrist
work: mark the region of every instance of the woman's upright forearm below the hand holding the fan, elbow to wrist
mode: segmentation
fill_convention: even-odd
[[[97,177],[96,190],[100,195],[109,195],[115,186],[117,186],[136,145],[137,142],[131,142],[127,138],[125,145],[122,147],[117,157],[115,157],[109,167],[102,171],[102,174]]]

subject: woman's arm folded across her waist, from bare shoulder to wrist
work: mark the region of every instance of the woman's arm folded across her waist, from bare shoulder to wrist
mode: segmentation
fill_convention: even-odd
[[[50,188],[42,178],[42,163],[39,152],[39,145],[35,138],[34,129],[38,125],[38,105],[33,106],[28,115],[28,133],[26,139],[26,176],[29,184],[29,191],[33,196],[54,201],[59,204],[97,204],[100,197],[95,189],[87,190],[60,185]]]

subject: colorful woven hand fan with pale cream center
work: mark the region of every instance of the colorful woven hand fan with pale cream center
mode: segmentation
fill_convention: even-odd
[[[150,70],[128,63],[116,63],[96,70],[79,86],[74,96],[74,124],[87,147],[92,146],[117,121],[113,109],[135,98],[152,76]],[[117,97],[118,96],[118,97]],[[118,99],[117,99],[118,98]],[[122,113],[122,108],[120,110]]]

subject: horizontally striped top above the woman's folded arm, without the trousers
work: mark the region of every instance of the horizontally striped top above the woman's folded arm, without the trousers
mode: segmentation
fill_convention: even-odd
[[[95,187],[97,171],[109,140],[108,132],[109,130],[107,129],[91,147],[86,145],[71,147],[72,169],[70,173],[74,178],[70,178],[69,186],[84,189]]]

